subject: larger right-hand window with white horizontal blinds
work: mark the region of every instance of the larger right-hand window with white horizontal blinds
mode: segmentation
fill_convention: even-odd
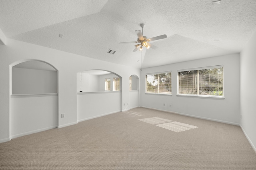
[[[223,96],[223,66],[178,71],[178,94]]]

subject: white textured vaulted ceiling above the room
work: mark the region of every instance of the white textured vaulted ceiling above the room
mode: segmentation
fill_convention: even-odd
[[[141,57],[146,68],[239,53],[256,31],[256,0],[212,1],[0,0],[0,29],[11,39],[136,68]],[[141,54],[119,44],[136,41],[140,23],[148,38],[167,35],[152,41],[158,49]]]

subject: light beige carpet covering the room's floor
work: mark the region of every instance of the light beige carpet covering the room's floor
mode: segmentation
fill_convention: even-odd
[[[256,153],[238,126],[140,107],[0,143],[0,169],[256,170]]]

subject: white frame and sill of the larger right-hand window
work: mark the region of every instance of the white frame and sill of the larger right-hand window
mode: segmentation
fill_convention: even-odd
[[[185,71],[196,71],[196,70],[206,70],[212,68],[222,68],[222,95],[203,95],[203,94],[180,94],[180,78],[179,73]],[[197,80],[197,84],[198,84]],[[200,87],[198,87],[200,89]],[[202,87],[201,87],[202,89]],[[199,67],[199,68],[189,68],[183,70],[177,70],[177,96],[193,96],[193,97],[206,97],[206,98],[225,98],[224,97],[224,65],[216,65],[216,66],[206,66],[206,67]]]

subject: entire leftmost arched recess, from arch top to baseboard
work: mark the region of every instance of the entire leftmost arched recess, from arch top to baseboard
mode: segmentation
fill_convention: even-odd
[[[56,128],[58,70],[39,60],[10,64],[10,137]]]

